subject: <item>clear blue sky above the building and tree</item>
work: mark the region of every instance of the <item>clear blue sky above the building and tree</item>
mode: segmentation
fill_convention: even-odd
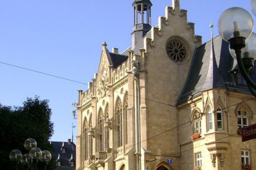
[[[123,52],[131,44],[134,0],[1,0],[0,1],[0,103],[22,106],[27,97],[49,99],[54,123],[52,141],[71,138],[77,124],[71,103],[77,90],[87,90],[87,82],[98,72],[102,43]],[[152,25],[165,15],[171,0],[151,0]],[[229,7],[251,12],[249,0],[180,0],[195,23],[203,43],[210,39],[209,24],[218,35],[218,20]],[[254,16],[253,16],[254,18]],[[255,21],[255,18],[254,18]],[[175,23],[173,23],[175,24]],[[82,83],[19,69],[12,64]],[[74,142],[76,137],[74,129]]]

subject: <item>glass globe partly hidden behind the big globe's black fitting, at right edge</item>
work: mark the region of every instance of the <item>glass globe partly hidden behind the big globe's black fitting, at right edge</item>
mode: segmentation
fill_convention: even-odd
[[[231,56],[236,60],[236,53],[234,49],[229,48]],[[251,36],[245,39],[245,48],[242,49],[242,58],[251,57],[256,58],[256,33],[252,32]]]

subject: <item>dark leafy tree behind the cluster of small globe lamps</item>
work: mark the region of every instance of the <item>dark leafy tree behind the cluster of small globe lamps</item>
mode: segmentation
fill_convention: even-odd
[[[19,149],[22,154],[28,153],[23,143],[28,138],[37,141],[37,146],[42,150],[53,151],[49,139],[53,134],[51,122],[52,111],[49,100],[27,98],[22,107],[2,106],[0,104],[0,167],[13,169],[14,165],[9,159],[10,151]],[[38,164],[38,169],[43,169]],[[49,169],[56,169],[52,159]],[[22,166],[19,167],[22,169]]]

